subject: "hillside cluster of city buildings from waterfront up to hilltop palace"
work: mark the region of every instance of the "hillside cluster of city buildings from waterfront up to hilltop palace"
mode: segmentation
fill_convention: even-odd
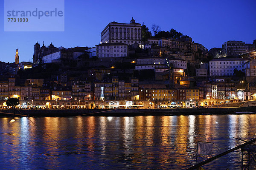
[[[87,76],[89,80],[69,79],[66,73],[59,75],[56,81],[25,79],[17,82],[15,77],[11,76],[0,80],[0,99],[15,97],[31,105],[35,101],[44,100],[55,100],[55,105],[58,105],[58,101],[79,101],[80,104],[83,101],[103,100],[177,102],[255,99],[255,85],[252,82],[256,82],[256,61],[251,55],[256,52],[253,45],[242,41],[228,41],[222,48],[212,48],[208,51],[203,45],[193,42],[190,37],[151,37],[143,42],[142,26],[133,18],[130,23],[109,23],[101,33],[101,43],[93,48],[56,48],[52,43],[47,47],[44,42],[42,46],[36,42],[33,62],[19,62],[16,50],[15,63],[12,65],[0,62],[0,70],[8,69],[9,73],[17,73],[19,69],[31,68],[38,64],[79,60],[79,56],[85,53],[89,57],[97,57],[104,65],[105,61],[128,59],[129,54],[133,54],[137,47],[147,49],[150,55],[132,59],[131,63],[134,63],[135,71],[154,73],[152,82],[143,82],[134,77],[128,81],[123,80],[120,76],[112,76],[111,68],[90,68]],[[226,57],[248,52],[251,55],[246,58]],[[215,59],[202,62],[207,60],[209,53]],[[192,67],[195,68],[195,76],[189,77],[188,72]],[[247,84],[243,80],[233,81],[230,78],[236,70],[244,72]],[[106,75],[108,79],[105,79]],[[201,80],[198,81],[198,78]],[[160,84],[157,81],[160,81]]]

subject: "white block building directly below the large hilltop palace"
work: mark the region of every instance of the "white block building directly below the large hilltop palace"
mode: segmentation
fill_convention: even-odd
[[[122,42],[102,43],[96,45],[97,57],[128,57],[128,45]]]

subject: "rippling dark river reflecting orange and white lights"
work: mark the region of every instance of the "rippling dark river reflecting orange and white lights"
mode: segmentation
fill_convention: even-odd
[[[1,170],[180,170],[195,164],[198,141],[215,156],[256,136],[256,115],[11,119],[0,118]],[[240,170],[241,152],[203,167]]]

